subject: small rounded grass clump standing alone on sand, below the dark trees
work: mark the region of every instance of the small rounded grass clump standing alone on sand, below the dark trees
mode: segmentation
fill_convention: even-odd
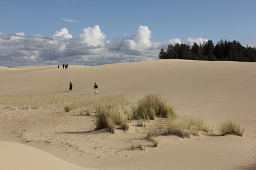
[[[222,135],[225,134],[237,134],[237,136],[243,136],[245,131],[244,127],[241,127],[236,121],[227,119],[226,122],[221,124],[220,127]]]

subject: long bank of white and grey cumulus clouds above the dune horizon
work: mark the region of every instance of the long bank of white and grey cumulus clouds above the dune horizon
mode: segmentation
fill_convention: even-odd
[[[50,36],[0,32],[0,66],[63,63],[99,65],[158,59],[161,48],[166,48],[168,44],[183,43],[179,38],[163,43],[152,42],[151,31],[142,25],[131,36],[123,34],[121,38],[113,38],[112,42],[105,41],[105,38],[99,25],[84,28],[76,37],[69,34],[66,28],[54,31]],[[200,44],[203,41],[207,39],[188,38],[186,44]]]

